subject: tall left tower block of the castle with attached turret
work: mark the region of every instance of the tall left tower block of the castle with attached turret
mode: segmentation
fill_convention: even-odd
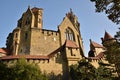
[[[30,54],[31,41],[34,36],[33,29],[42,29],[43,9],[28,7],[27,11],[23,13],[22,17],[18,20],[17,28],[13,30],[13,42],[11,43],[11,54]]]

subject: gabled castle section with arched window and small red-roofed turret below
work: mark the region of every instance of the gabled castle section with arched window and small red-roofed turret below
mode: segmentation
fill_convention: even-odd
[[[80,34],[80,23],[72,10],[66,14],[59,25],[60,43],[65,44],[68,65],[77,63],[84,57],[82,37]]]

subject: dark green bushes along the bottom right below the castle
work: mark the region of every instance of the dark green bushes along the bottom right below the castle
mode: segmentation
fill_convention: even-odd
[[[110,64],[100,63],[96,69],[88,61],[81,60],[76,65],[70,66],[70,76],[72,80],[117,80]]]

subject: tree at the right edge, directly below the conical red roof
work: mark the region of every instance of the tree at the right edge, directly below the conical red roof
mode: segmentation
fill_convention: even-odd
[[[120,77],[120,43],[118,43],[118,41],[116,40],[110,40],[104,42],[103,45],[107,49],[107,51],[105,52],[106,59],[109,61],[109,63],[115,64],[116,70]]]

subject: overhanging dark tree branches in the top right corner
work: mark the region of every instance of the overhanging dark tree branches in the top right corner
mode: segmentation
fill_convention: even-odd
[[[120,23],[120,0],[90,0],[95,2],[96,12],[105,12],[116,24]]]

